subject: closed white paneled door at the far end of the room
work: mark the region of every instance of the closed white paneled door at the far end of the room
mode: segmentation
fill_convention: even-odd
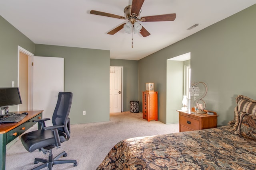
[[[122,101],[122,69],[110,66],[110,113],[121,112]]]

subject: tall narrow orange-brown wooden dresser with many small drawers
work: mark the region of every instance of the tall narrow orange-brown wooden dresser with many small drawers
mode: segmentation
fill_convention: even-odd
[[[158,92],[142,92],[142,116],[143,119],[158,120]]]

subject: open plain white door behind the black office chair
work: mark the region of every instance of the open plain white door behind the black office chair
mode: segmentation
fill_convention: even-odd
[[[64,90],[64,58],[34,56],[33,63],[33,109],[52,119],[58,93]]]

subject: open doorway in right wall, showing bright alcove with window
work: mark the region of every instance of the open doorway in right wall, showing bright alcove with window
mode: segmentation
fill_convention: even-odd
[[[166,124],[178,123],[176,110],[182,107],[183,95],[188,94],[190,86],[190,53],[167,60],[166,66]]]

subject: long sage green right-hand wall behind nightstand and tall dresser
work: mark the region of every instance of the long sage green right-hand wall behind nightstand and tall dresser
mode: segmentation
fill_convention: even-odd
[[[139,61],[139,92],[156,83],[160,121],[166,122],[166,59],[188,52],[191,80],[207,84],[206,109],[218,113],[218,125],[233,119],[238,94],[256,99],[255,16],[253,5]]]

